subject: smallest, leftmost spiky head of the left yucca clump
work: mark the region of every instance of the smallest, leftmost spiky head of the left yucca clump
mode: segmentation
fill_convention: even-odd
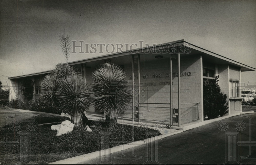
[[[56,104],[56,91],[59,86],[58,79],[53,75],[46,75],[39,83],[41,98]]]

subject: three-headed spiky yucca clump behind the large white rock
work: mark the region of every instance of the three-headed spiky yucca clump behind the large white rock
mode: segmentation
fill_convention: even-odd
[[[88,120],[84,111],[90,107],[92,91],[73,67],[57,64],[52,75],[41,80],[40,86],[41,97],[69,114],[75,126]]]

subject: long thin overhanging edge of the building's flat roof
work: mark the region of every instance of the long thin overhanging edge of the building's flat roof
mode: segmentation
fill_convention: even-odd
[[[164,49],[164,48],[167,48],[167,46],[169,46],[171,44],[181,44],[181,45],[189,47],[191,49],[195,49],[195,50],[198,50],[202,53],[208,54],[212,57],[224,60],[228,64],[234,64],[235,66],[239,66],[241,68],[242,72],[243,71],[255,71],[255,69],[256,69],[256,68],[253,68],[251,66],[248,66],[248,65],[242,64],[240,62],[234,61],[232,59],[226,58],[224,56],[221,56],[219,54],[216,54],[214,52],[211,52],[211,51],[208,51],[206,49],[200,48],[196,45],[193,45],[189,42],[184,41],[184,39],[173,41],[173,42],[168,42],[168,43],[164,43],[164,44],[153,45],[153,46],[150,46],[150,47],[137,48],[137,49],[127,50],[127,51],[124,51],[124,52],[105,54],[105,55],[102,55],[102,56],[92,57],[92,58],[88,58],[88,59],[72,61],[72,62],[69,62],[69,64],[70,65],[82,64],[82,63],[86,63],[86,62],[98,61],[98,60],[103,60],[103,59],[108,59],[108,58],[138,54],[138,53],[143,53],[144,51],[147,51],[148,49],[155,50],[155,49],[160,48],[160,47],[161,47],[161,49]],[[140,50],[140,52],[138,52],[138,50]],[[16,79],[16,78],[22,78],[22,77],[28,77],[28,76],[36,76],[36,75],[47,74],[47,73],[51,73],[51,72],[52,72],[52,70],[48,70],[48,71],[44,71],[44,72],[37,72],[37,73],[32,73],[32,74],[8,77],[8,79]]]

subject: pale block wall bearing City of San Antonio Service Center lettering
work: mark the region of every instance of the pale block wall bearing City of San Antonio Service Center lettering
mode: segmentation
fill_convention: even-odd
[[[142,57],[141,57],[142,59]],[[124,66],[126,79],[132,80],[132,64]],[[180,58],[180,103],[200,103],[201,102],[201,63],[200,56]],[[178,72],[177,59],[173,60],[173,107],[178,107]],[[170,103],[170,61],[169,59],[155,59],[153,61],[141,62],[141,89],[146,92],[141,93],[142,103]],[[138,71],[135,64],[135,86],[138,86]],[[131,83],[132,84],[132,83]],[[142,97],[146,95],[147,97]],[[154,106],[151,104],[150,106]],[[166,107],[166,105],[157,105]],[[182,105],[186,107],[186,105]],[[199,116],[201,116],[201,106],[199,105]]]

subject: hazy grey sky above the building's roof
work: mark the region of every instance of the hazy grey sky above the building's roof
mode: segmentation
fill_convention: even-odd
[[[256,68],[256,1],[1,0],[0,5],[0,80],[65,62],[59,43],[64,29],[87,44],[184,39]],[[108,54],[76,52],[69,62]],[[256,71],[242,72],[242,82],[248,81],[256,82]]]

